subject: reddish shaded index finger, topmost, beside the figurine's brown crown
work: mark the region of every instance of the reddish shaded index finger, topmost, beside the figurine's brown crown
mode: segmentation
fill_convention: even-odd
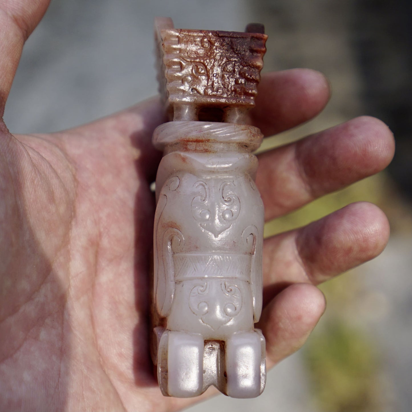
[[[330,87],[326,77],[315,70],[291,69],[262,75],[256,107],[250,115],[265,136],[297,126],[328,103]]]

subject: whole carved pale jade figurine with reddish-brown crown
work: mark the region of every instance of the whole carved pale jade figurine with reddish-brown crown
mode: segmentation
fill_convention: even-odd
[[[159,82],[170,121],[153,135],[156,178],[152,358],[166,396],[265,387],[263,204],[246,124],[263,66],[263,26],[245,33],[173,28],[158,18]]]

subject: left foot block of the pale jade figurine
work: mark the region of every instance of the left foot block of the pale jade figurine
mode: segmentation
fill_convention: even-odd
[[[157,376],[166,396],[190,398],[203,390],[203,337],[166,330],[159,343]]]

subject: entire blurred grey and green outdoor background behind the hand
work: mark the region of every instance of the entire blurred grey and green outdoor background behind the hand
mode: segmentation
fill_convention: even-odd
[[[409,0],[52,0],[27,41],[7,107],[14,133],[89,122],[156,94],[153,19],[175,27],[242,31],[264,23],[265,71],[308,67],[332,85],[313,121],[262,150],[358,115],[395,133],[389,169],[270,222],[265,235],[368,200],[392,234],[379,258],[321,286],[328,310],[307,344],[268,373],[252,400],[218,396],[191,412],[410,411],[412,405],[412,2]]]

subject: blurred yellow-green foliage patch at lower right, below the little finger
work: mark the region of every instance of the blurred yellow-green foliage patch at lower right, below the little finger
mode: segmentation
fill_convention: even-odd
[[[314,332],[303,351],[317,410],[378,410],[373,343],[338,317]]]

